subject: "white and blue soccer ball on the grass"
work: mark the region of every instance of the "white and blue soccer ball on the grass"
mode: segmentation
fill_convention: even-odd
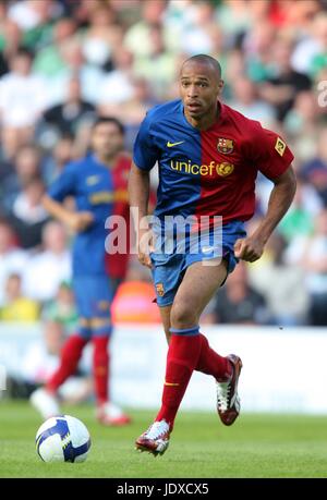
[[[84,462],[89,447],[87,428],[70,415],[48,418],[36,432],[36,451],[44,462]]]

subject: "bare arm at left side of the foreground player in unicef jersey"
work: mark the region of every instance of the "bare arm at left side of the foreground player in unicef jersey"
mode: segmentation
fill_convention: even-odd
[[[141,225],[141,221],[148,214],[149,198],[149,173],[138,169],[132,163],[129,178],[130,206],[135,208],[133,211],[134,227],[138,232],[138,260],[144,266],[150,268],[152,261],[148,253],[148,229]],[[144,219],[143,219],[144,220]]]

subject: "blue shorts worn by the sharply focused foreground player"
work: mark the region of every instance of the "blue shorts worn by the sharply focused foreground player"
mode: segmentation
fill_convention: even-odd
[[[187,267],[194,263],[211,260],[213,264],[213,259],[223,258],[228,264],[228,273],[234,270],[239,259],[234,256],[233,246],[237,240],[246,236],[244,223],[232,221],[225,224],[220,231],[219,244],[215,244],[213,232],[208,232],[205,239],[202,237],[201,245],[197,245],[194,252],[167,254],[156,251],[150,253],[152,273],[159,307],[173,303]]]

